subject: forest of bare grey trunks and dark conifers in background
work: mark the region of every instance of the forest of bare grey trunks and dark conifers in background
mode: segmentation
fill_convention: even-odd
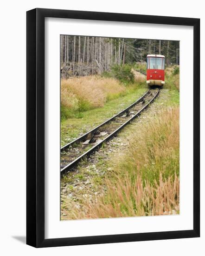
[[[145,62],[147,54],[163,54],[179,65],[179,41],[61,35],[61,77],[102,74],[114,65]]]

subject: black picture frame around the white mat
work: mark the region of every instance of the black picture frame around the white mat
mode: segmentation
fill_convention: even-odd
[[[45,239],[45,17],[193,27],[193,229]],[[26,243],[33,247],[119,243],[200,236],[200,19],[33,9],[26,13]]]

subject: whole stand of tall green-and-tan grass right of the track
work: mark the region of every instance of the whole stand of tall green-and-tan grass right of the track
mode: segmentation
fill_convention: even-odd
[[[96,196],[79,197],[81,210],[64,199],[65,219],[153,216],[179,213],[179,108],[167,108],[129,136],[114,171]],[[106,192],[104,189],[106,188]]]

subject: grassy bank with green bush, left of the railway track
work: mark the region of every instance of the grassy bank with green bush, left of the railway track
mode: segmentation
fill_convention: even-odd
[[[61,80],[62,146],[126,108],[146,92],[145,76],[133,74],[130,67],[124,69],[121,75],[120,69],[114,70],[114,74]]]

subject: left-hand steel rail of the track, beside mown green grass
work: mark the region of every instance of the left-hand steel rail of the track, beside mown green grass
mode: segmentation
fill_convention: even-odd
[[[139,98],[137,101],[135,101],[134,103],[129,105],[127,108],[123,109],[121,112],[117,113],[116,115],[112,116],[111,118],[109,118],[108,120],[104,121],[100,125],[96,126],[92,130],[88,131],[87,133],[83,134],[82,136],[78,137],[77,139],[75,139],[75,140],[69,142],[68,144],[66,144],[65,146],[63,146],[60,149],[61,152],[64,151],[65,149],[69,148],[72,144],[74,144],[76,142],[83,141],[83,139],[85,139],[88,135],[95,133],[98,128],[102,127],[105,124],[108,124],[110,121],[113,121],[119,115],[122,115],[123,113],[127,112],[130,108],[133,108],[137,103],[139,103],[141,100],[143,100],[143,98],[149,93],[149,91],[150,91],[150,89],[144,95],[142,95],[141,98]]]

